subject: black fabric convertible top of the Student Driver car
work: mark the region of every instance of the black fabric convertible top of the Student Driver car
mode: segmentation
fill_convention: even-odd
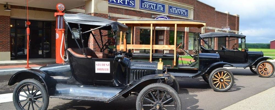
[[[64,14],[64,20],[66,24],[75,23],[75,24],[86,24],[90,25],[90,28],[98,28],[101,26],[106,26],[102,28],[103,30],[111,30],[112,31],[124,31],[128,30],[128,27],[124,24],[121,24],[116,21],[112,21],[106,18],[101,18],[97,16],[91,16],[83,13],[77,14]]]

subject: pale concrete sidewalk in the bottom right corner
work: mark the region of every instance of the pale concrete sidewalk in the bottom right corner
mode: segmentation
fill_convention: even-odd
[[[239,101],[222,110],[274,110],[275,87]]]

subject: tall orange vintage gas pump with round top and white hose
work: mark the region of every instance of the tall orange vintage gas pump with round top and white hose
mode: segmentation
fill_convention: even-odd
[[[55,41],[55,57],[56,57],[56,63],[64,63],[63,56],[64,56],[64,44],[61,44],[65,41],[64,38],[64,13],[62,13],[65,9],[65,6],[62,3],[58,3],[56,5],[57,13],[54,13],[54,16],[56,17],[56,41]],[[64,40],[64,41],[62,41]],[[65,42],[64,42],[65,43]]]

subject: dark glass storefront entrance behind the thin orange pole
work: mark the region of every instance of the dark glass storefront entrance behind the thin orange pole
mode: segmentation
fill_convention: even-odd
[[[50,58],[51,22],[30,20],[30,58]],[[11,19],[11,59],[27,57],[27,33],[25,20]]]

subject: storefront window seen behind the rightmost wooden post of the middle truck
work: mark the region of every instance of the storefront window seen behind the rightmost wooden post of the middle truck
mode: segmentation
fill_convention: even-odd
[[[174,35],[175,31],[170,31],[170,37],[169,37],[169,45],[174,45]],[[177,31],[177,45],[179,45],[182,42],[181,47],[184,46],[184,32]]]

